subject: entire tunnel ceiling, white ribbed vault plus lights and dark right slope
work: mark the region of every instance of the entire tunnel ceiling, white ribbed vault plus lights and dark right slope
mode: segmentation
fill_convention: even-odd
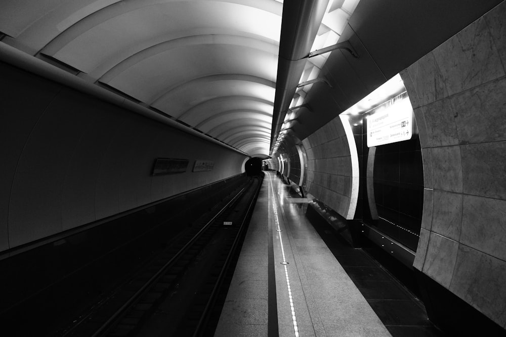
[[[500,1],[3,0],[0,43],[267,158]]]

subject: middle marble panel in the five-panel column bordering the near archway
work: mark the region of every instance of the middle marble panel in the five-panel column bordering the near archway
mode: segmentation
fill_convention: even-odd
[[[462,192],[460,148],[458,146],[432,148],[431,152],[434,188]]]

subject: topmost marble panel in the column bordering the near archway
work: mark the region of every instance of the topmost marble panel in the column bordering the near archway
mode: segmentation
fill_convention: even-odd
[[[448,90],[434,54],[431,52],[407,69],[409,77],[401,73],[407,87],[413,109],[448,97]],[[404,74],[404,77],[402,76]]]

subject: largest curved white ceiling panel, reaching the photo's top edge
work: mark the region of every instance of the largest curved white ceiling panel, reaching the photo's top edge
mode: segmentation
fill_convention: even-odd
[[[76,23],[43,52],[89,73],[115,54],[130,56],[151,45],[191,35],[241,32],[239,35],[271,43],[279,40],[280,17],[258,8],[214,1],[131,3],[113,5]],[[279,22],[279,27],[270,22]],[[163,40],[156,42],[158,36]]]

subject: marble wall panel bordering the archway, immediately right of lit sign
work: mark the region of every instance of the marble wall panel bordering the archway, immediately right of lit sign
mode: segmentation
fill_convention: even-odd
[[[429,147],[441,147],[458,144],[455,110],[450,99],[443,99],[424,107],[426,137]]]

